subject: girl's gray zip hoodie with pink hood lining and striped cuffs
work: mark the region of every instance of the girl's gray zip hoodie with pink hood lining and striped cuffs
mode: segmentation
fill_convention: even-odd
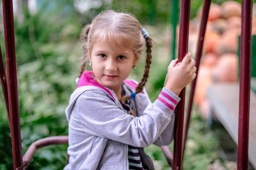
[[[125,80],[123,89],[129,95],[137,82]],[[175,115],[180,98],[163,88],[151,103],[148,94],[131,99],[137,117],[123,109],[116,94],[84,71],[78,88],[66,109],[69,121],[69,163],[64,170],[129,170],[128,144],[148,147],[153,143],[169,145],[173,140]]]

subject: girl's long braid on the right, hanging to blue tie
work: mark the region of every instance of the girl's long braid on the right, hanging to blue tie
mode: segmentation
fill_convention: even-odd
[[[151,58],[152,58],[152,55],[151,55],[151,48],[152,48],[152,39],[150,37],[147,37],[146,38],[146,65],[145,65],[145,70],[144,70],[144,74],[143,74],[143,78],[141,79],[139,85],[137,86],[136,90],[135,90],[135,93],[138,94],[140,92],[143,91],[143,87],[144,85],[146,84],[147,80],[148,80],[148,74],[149,74],[149,68],[150,68],[150,64],[151,64]],[[125,103],[126,100],[130,99],[131,98],[131,95],[128,95],[128,96],[123,96],[121,98],[121,102],[122,103]],[[130,109],[130,114],[133,115],[133,116],[136,116],[136,113]]]

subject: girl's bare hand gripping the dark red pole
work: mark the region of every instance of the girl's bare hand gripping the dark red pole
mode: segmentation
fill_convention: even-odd
[[[178,96],[180,91],[195,79],[195,71],[195,60],[191,59],[191,53],[187,53],[182,62],[178,62],[178,59],[172,60],[164,87]]]

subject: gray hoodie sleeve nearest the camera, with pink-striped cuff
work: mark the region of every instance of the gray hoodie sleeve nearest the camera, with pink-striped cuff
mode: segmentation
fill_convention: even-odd
[[[76,103],[85,132],[93,131],[104,138],[135,147],[148,147],[171,122],[172,113],[179,100],[177,96],[164,98],[160,94],[154,103],[145,108],[143,116],[140,117],[126,113],[102,91],[85,91]]]

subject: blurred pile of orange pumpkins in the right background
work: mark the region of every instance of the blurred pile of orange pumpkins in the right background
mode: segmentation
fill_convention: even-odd
[[[256,4],[253,4],[255,8]],[[256,11],[256,10],[253,10]],[[196,54],[202,7],[190,21],[189,51]],[[253,14],[252,34],[256,34],[256,15]],[[177,34],[179,29],[177,28]],[[198,72],[194,104],[204,118],[208,117],[207,88],[214,82],[237,82],[239,57],[238,40],[241,34],[241,3],[230,0],[210,6],[204,49]],[[178,37],[178,36],[177,36]]]

